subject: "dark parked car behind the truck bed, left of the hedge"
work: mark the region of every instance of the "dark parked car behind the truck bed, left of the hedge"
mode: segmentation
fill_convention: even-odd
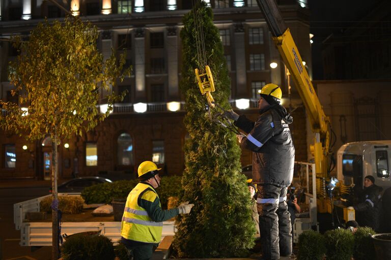
[[[85,187],[105,182],[113,181],[97,176],[79,177],[62,183],[57,190],[58,192],[81,192]],[[50,193],[51,191],[50,188]]]

